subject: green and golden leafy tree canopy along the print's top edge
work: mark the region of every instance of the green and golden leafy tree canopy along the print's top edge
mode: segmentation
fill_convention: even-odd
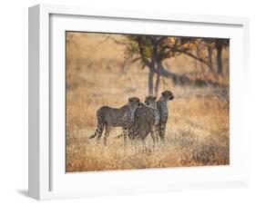
[[[187,54],[190,57],[210,66],[209,49],[216,49],[218,46],[229,46],[228,39],[200,38],[200,37],[178,37],[160,35],[125,35],[128,43],[126,46],[126,58],[139,60],[141,67],[153,66],[154,63]],[[208,49],[208,50],[207,50]]]

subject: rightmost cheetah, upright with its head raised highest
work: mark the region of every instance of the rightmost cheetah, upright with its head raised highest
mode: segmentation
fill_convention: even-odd
[[[157,106],[159,109],[160,119],[158,125],[158,132],[160,140],[164,141],[166,124],[168,121],[168,102],[174,99],[173,93],[170,91],[164,91],[161,93]]]

